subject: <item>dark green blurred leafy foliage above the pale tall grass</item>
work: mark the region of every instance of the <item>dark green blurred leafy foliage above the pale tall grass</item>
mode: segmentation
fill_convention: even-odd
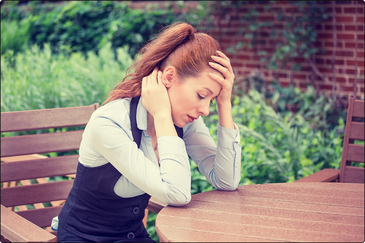
[[[47,42],[55,53],[88,51],[98,53],[106,43],[112,48],[128,46],[134,56],[140,47],[166,25],[180,20],[194,20],[195,13],[174,13],[174,5],[164,8],[147,4],[144,9],[129,7],[129,1],[65,1],[58,4],[30,1],[17,6],[6,1],[1,7],[1,21],[24,21],[30,26],[30,43]],[[1,34],[1,38],[3,34]]]

